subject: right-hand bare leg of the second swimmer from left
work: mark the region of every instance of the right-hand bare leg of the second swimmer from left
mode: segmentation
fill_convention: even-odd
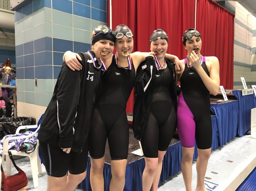
[[[125,169],[127,159],[111,160],[111,181],[109,185],[110,191],[123,191],[125,184]]]

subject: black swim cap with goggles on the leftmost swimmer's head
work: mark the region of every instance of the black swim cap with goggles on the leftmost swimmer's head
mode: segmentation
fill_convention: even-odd
[[[99,25],[93,29],[91,34],[91,45],[95,44],[99,40],[110,40],[115,42],[116,35],[112,32],[111,28],[107,25]]]

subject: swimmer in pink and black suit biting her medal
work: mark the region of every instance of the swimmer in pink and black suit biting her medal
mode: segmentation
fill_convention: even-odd
[[[210,92],[219,92],[219,60],[202,56],[201,34],[189,28],[183,34],[187,58],[181,60],[179,72],[181,93],[178,98],[177,130],[182,145],[182,175],[186,191],[192,191],[192,162],[194,140],[198,147],[196,191],[206,191],[204,177],[211,155],[212,123]]]

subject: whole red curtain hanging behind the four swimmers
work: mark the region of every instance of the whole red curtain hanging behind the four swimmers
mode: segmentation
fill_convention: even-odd
[[[219,58],[221,85],[233,88],[234,16],[212,0],[197,0],[196,18],[196,28],[202,34],[202,55]],[[131,28],[134,51],[149,52],[149,37],[161,28],[169,36],[167,52],[183,59],[186,51],[182,35],[194,28],[194,20],[195,0],[112,0],[112,29],[118,24]],[[132,112],[132,107],[133,92],[126,111]]]

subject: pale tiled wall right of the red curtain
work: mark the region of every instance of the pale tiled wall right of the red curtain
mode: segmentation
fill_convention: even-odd
[[[235,7],[234,89],[244,89],[240,77],[251,88],[256,84],[256,18],[238,2],[228,2]]]

